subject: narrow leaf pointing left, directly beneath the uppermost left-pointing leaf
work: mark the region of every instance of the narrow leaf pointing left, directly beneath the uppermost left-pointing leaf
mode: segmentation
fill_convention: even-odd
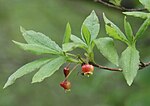
[[[30,51],[35,54],[60,54],[60,52],[56,52],[48,47],[37,45],[37,44],[24,44],[20,42],[13,41],[16,45],[18,45],[20,48],[26,51]]]

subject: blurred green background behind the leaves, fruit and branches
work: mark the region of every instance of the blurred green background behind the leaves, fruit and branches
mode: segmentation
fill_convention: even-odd
[[[129,3],[130,2],[130,3]],[[141,7],[137,0],[124,0],[126,7]],[[98,37],[107,36],[102,13],[121,26],[123,15],[92,0],[0,0],[0,106],[150,106],[150,67],[139,71],[133,85],[129,87],[118,72],[95,69],[90,78],[78,75],[80,67],[71,76],[72,91],[64,93],[59,83],[64,79],[61,68],[42,83],[31,84],[34,72],[24,76],[7,89],[2,89],[7,78],[23,64],[38,56],[24,52],[11,40],[24,42],[19,26],[44,33],[59,45],[70,22],[73,34],[80,36],[80,27],[86,16],[95,10],[100,19]],[[128,17],[136,31],[143,20]],[[141,60],[150,60],[150,30],[138,42]],[[126,45],[116,41],[118,52]],[[95,49],[96,61],[111,65]],[[77,49],[74,53],[83,53]]]

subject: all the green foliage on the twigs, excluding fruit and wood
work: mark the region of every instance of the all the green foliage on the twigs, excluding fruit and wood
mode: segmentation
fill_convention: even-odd
[[[120,0],[115,1],[120,3]],[[149,0],[140,0],[140,2],[150,11]],[[39,71],[33,76],[32,83],[41,82],[45,78],[50,77],[66,62],[76,64],[95,62],[93,52],[95,46],[105,58],[123,70],[123,75],[128,85],[131,85],[140,64],[140,56],[139,51],[136,49],[136,42],[150,25],[150,13],[123,12],[123,14],[145,19],[136,34],[133,34],[131,25],[127,21],[126,16],[124,18],[125,33],[123,33],[119,27],[103,14],[106,33],[109,37],[97,38],[100,24],[96,13],[92,11],[82,24],[81,38],[73,35],[71,33],[70,24],[67,24],[62,48],[46,35],[32,30],[26,31],[21,27],[22,35],[27,43],[13,41],[16,45],[38,55],[53,54],[56,58],[42,58],[22,66],[8,78],[4,88],[13,84],[16,79],[37,69],[39,69]],[[121,53],[121,56],[118,56],[113,39],[120,40],[127,44],[127,48]],[[71,54],[70,51],[75,48],[84,49],[85,58],[81,59],[81,57],[78,58],[78,55]]]

